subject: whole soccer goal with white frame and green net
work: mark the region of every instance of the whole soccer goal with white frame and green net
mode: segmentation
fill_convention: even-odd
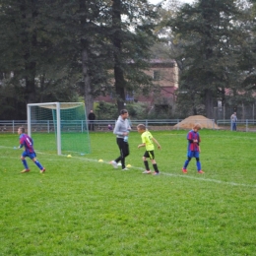
[[[28,134],[35,150],[57,150],[58,155],[91,153],[84,103],[30,103],[27,111]]]

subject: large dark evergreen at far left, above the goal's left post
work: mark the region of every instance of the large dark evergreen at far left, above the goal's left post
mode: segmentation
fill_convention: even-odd
[[[1,104],[9,116],[25,119],[30,102],[74,100],[76,92],[64,90],[67,65],[58,69],[55,61],[60,55],[47,32],[45,2],[0,0],[0,6]]]

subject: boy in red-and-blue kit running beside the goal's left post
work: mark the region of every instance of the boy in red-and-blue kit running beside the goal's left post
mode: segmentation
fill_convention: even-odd
[[[36,160],[36,154],[32,147],[32,145],[33,145],[32,138],[25,133],[25,128],[23,128],[23,127],[20,127],[18,129],[18,134],[20,135],[19,149],[21,149],[23,147],[25,148],[25,150],[21,156],[21,160],[25,166],[25,169],[22,170],[21,173],[30,171],[28,162],[26,160],[27,157],[29,157],[37,165],[37,167],[40,169],[41,173],[44,172],[45,168],[40,164],[40,162],[38,160]]]

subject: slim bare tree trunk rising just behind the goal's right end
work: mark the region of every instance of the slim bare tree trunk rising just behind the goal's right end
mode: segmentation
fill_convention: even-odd
[[[82,51],[82,66],[83,66],[83,76],[85,81],[85,88],[84,88],[84,99],[86,105],[86,112],[87,116],[90,113],[91,109],[94,109],[94,96],[91,94],[91,79],[88,72],[88,50],[83,49]]]

